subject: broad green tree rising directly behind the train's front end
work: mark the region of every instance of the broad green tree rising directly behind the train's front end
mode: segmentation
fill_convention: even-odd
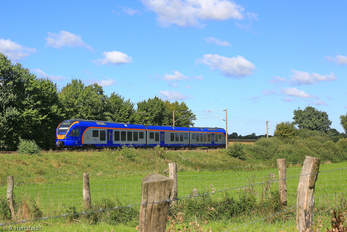
[[[96,83],[85,86],[82,80],[71,80],[58,94],[65,106],[66,119],[106,120],[106,96],[103,93]]]

